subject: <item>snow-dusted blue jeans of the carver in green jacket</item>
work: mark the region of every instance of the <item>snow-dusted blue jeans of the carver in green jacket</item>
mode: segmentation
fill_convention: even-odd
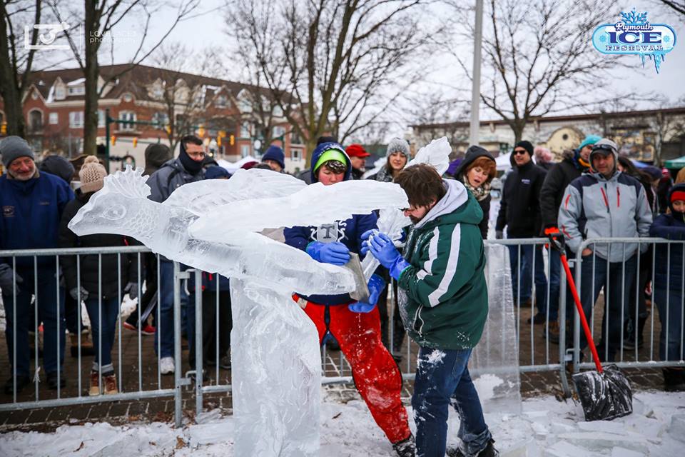
[[[465,455],[476,455],[492,438],[467,368],[471,351],[420,348],[412,396],[417,457],[445,456],[450,399]]]

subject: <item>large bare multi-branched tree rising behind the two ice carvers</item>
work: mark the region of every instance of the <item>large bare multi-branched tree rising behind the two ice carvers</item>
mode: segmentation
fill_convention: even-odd
[[[230,0],[230,34],[310,151],[326,131],[344,141],[415,81],[430,0]]]

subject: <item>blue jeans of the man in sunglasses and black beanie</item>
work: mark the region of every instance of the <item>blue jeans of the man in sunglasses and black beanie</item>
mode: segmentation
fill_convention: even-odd
[[[507,246],[509,248],[509,261],[512,266],[512,288],[514,303],[524,303],[532,295],[533,261],[535,263],[535,306],[537,312],[547,313],[547,276],[544,276],[544,259],[542,258],[542,246],[532,244],[520,245],[521,264],[519,266],[519,246]],[[535,253],[533,254],[533,251]],[[519,277],[519,268],[521,276]],[[558,281],[557,281],[558,282]],[[521,296],[519,297],[519,293]],[[551,291],[550,291],[551,293]],[[557,309],[559,303],[557,301]],[[550,318],[550,320],[552,320]]]

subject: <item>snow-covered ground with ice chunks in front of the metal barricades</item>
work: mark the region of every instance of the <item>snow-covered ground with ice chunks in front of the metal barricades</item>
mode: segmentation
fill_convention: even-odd
[[[684,455],[685,393],[635,393],[634,410],[615,421],[587,423],[579,404],[543,397],[524,401],[520,416],[489,413],[485,418],[507,457]],[[178,430],[168,423],[87,423],[61,426],[55,433],[5,433],[0,456],[233,456],[233,417],[210,411],[201,421]],[[321,423],[320,456],[394,455],[362,401],[325,401]],[[448,443],[457,443],[458,426],[451,413]]]

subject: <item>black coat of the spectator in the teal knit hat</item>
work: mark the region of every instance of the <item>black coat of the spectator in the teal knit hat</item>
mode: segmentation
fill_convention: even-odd
[[[574,160],[573,154],[564,154],[564,159],[547,172],[540,189],[540,211],[544,228],[557,226],[559,206],[562,206],[564,192],[571,181],[585,170],[587,169]]]

